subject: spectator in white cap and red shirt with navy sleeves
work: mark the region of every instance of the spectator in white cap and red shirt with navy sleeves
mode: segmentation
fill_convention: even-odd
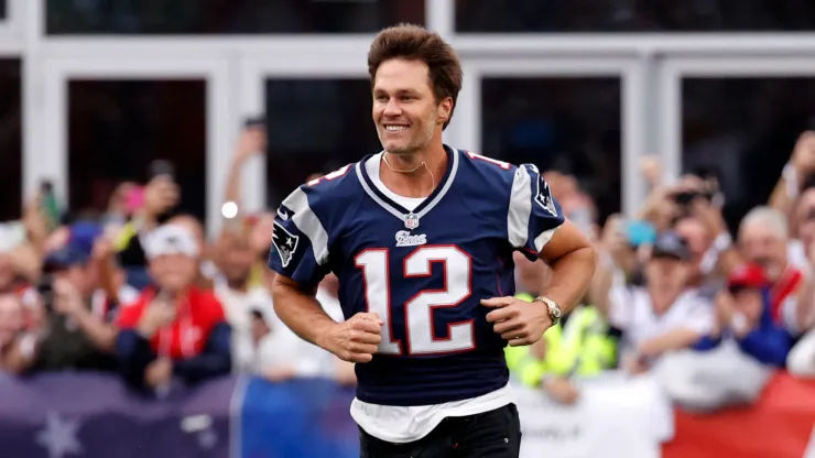
[[[134,386],[161,390],[231,371],[231,332],[220,302],[195,286],[198,246],[189,231],[166,225],[144,240],[154,285],[122,307],[117,355]]]

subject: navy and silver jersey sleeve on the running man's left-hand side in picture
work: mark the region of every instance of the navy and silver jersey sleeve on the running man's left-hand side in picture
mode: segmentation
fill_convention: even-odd
[[[308,205],[304,187],[278,209],[269,268],[297,283],[316,285],[328,273],[328,235]]]

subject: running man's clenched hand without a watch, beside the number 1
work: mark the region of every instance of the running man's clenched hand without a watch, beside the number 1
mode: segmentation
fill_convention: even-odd
[[[370,362],[382,341],[384,323],[374,313],[358,313],[344,323],[333,325],[317,345],[350,362]]]

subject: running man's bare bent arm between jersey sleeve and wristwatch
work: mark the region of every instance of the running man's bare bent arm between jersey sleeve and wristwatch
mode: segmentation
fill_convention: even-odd
[[[580,230],[566,220],[543,248],[539,258],[550,265],[552,275],[543,296],[554,301],[566,313],[586,294],[595,274],[597,253]]]

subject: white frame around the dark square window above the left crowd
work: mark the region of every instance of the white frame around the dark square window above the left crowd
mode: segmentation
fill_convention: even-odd
[[[42,62],[44,88],[34,113],[26,117],[28,144],[23,157],[23,186],[31,192],[39,181],[54,181],[57,196],[67,201],[68,181],[68,81],[86,79],[172,79],[189,78],[206,81],[206,210],[207,228],[216,233],[220,227],[220,206],[225,190],[225,171],[236,129],[230,90],[230,67],[227,59],[187,56],[180,58],[161,53],[126,54],[111,59],[109,55],[77,55],[45,58]]]

